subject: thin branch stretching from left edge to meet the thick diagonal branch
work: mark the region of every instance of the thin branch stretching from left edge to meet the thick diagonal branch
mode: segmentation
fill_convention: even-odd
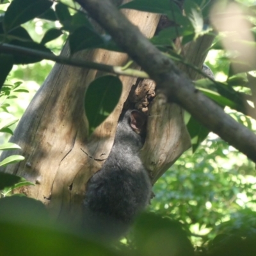
[[[74,59],[65,56],[56,56],[49,52],[37,51],[33,49],[28,49],[26,47],[21,47],[17,45],[11,44],[0,44],[0,52],[10,53],[10,54],[26,54],[29,56],[43,58],[45,60],[56,61],[57,63],[72,65],[81,68],[92,68],[97,69],[104,72],[109,72],[112,74],[120,75],[120,76],[132,76],[132,77],[141,77],[148,78],[148,74],[146,72],[132,69],[132,68],[124,68],[120,66],[111,66],[101,63],[96,63],[92,61],[84,61],[79,59]]]

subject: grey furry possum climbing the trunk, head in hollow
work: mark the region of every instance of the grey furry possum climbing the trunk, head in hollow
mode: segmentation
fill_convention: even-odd
[[[150,202],[152,185],[140,159],[147,116],[128,110],[118,122],[108,159],[88,181],[84,198],[87,234],[115,239]]]

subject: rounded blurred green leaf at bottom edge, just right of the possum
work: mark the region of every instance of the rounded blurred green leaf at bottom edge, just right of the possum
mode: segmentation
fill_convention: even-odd
[[[182,224],[151,212],[141,214],[136,220],[134,242],[138,255],[194,255],[193,246]]]

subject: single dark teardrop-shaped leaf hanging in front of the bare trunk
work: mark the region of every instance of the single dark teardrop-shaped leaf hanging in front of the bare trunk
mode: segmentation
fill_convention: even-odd
[[[89,134],[115,109],[121,93],[122,82],[116,76],[102,76],[90,84],[84,99]]]

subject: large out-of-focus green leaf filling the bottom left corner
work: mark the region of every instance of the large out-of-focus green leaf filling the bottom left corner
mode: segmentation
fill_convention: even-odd
[[[86,239],[74,228],[56,224],[42,202],[26,196],[0,199],[0,247],[3,255],[116,256],[120,252]],[[15,244],[15,246],[13,246]]]

